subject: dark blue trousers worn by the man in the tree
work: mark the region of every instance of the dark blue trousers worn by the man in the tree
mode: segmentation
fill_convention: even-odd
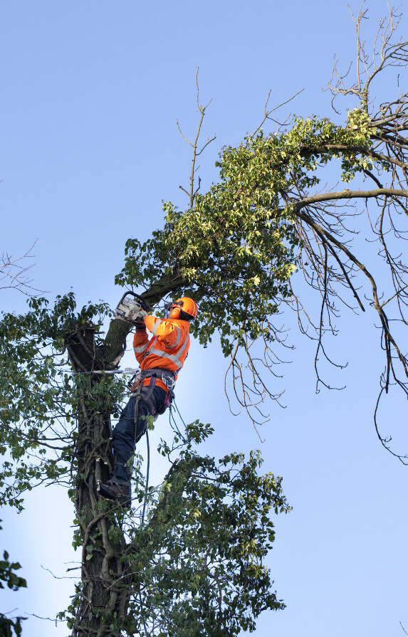
[[[154,387],[152,391],[148,387],[143,387],[137,410],[137,423],[135,423],[136,396],[132,396],[123,409],[113,430],[115,466],[111,482],[124,484],[130,481],[132,466],[129,466],[129,460],[135,453],[137,441],[146,433],[147,416],[162,414],[166,396],[166,392],[161,387]]]

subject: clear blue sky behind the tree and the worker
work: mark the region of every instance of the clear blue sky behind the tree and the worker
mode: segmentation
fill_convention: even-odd
[[[359,3],[351,6],[357,11]],[[370,3],[369,33],[386,10],[385,1]],[[213,100],[204,137],[217,134],[199,171],[205,189],[216,179],[217,152],[257,127],[270,89],[278,105],[304,88],[292,110],[331,116],[321,89],[333,55],[347,68],[355,53],[343,0],[9,1],[0,16],[0,253],[18,256],[37,240],[36,287],[51,299],[73,288],[80,303],[115,305],[126,239],[147,238],[161,225],[162,199],[185,204],[179,185],[187,184],[190,154],[176,119],[192,137],[197,67],[202,101]],[[24,311],[15,291],[1,292],[0,303]],[[283,475],[293,505],[291,515],[276,518],[269,560],[288,608],[263,615],[256,637],[399,637],[400,621],[408,629],[408,468],[375,436],[382,358],[373,323],[370,312],[340,321],[332,351],[350,365],[330,380],[347,389],[318,395],[313,345],[293,332],[293,362],[277,386],[286,386],[288,407],[272,405],[261,432],[264,468]],[[193,344],[188,366],[177,404],[187,421],[215,427],[209,451],[257,448],[251,424],[227,409],[216,343]],[[406,421],[405,404],[391,396],[382,418],[390,430]],[[166,423],[157,421],[152,448]],[[161,465],[152,463],[159,479]],[[78,559],[68,550],[66,494],[38,490],[21,515],[4,510],[0,517],[1,544],[28,579],[27,591],[0,591],[1,611],[55,616],[71,583],[44,569],[61,577],[64,562]],[[34,618],[23,626],[25,637],[66,632]]]

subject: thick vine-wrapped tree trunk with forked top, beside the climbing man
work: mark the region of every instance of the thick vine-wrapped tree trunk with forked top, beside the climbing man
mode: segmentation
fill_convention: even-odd
[[[164,276],[142,297],[152,307],[183,283],[176,273]],[[123,559],[126,547],[120,527],[122,509],[100,498],[98,492],[98,484],[110,478],[113,468],[110,397],[107,377],[92,372],[117,367],[131,329],[125,321],[111,320],[102,344],[95,342],[93,325],[77,325],[66,335],[70,362],[78,374],[75,510],[83,554],[75,637],[117,636],[127,616],[130,576],[125,574]]]

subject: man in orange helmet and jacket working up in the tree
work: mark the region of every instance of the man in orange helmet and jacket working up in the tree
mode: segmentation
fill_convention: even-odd
[[[100,484],[104,498],[129,506],[132,456],[147,429],[147,418],[164,414],[172,402],[174,381],[189,351],[189,322],[197,317],[197,303],[183,297],[166,305],[167,317],[159,319],[140,310],[135,317],[133,349],[140,364],[132,396],[113,431],[115,465],[108,484]],[[153,337],[147,338],[146,327]]]

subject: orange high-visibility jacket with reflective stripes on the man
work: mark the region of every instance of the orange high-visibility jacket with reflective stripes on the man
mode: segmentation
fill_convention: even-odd
[[[145,330],[136,330],[133,338],[133,349],[140,369],[159,367],[178,373],[183,367],[190,347],[189,321],[146,316],[145,325],[152,332],[152,338],[147,338]],[[177,374],[175,377],[177,378]],[[144,379],[142,384],[150,384],[150,378]],[[167,391],[160,379],[157,379],[156,386]]]

